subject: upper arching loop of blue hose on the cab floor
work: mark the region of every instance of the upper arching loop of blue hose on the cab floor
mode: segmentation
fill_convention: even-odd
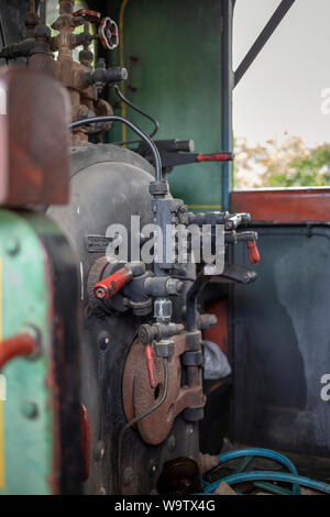
[[[235,460],[238,458],[245,458],[245,457],[268,458],[270,460],[274,460],[277,463],[280,463],[282,465],[284,465],[289,471],[289,473],[294,475],[298,475],[297,469],[295,468],[294,463],[288,458],[286,458],[283,454],[279,454],[279,452],[271,451],[270,449],[251,448],[251,449],[239,449],[237,451],[223,452],[222,454],[218,455],[218,461],[219,463],[226,463],[228,461]],[[238,474],[234,474],[234,475],[238,475]],[[219,482],[215,482],[215,483],[218,483],[216,486],[218,487]],[[206,492],[213,492],[212,490],[210,490],[210,486],[212,486],[215,483],[208,484],[206,482],[202,482],[204,490]],[[294,484],[293,495],[298,495],[298,494],[299,494],[299,485]]]

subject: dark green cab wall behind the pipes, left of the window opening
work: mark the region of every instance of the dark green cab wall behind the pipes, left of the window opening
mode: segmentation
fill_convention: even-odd
[[[205,153],[221,150],[221,3],[128,0],[123,15],[124,64],[139,58],[130,67],[136,91],[125,85],[127,96],[160,121],[157,139],[194,139]],[[118,19],[120,4],[110,1],[108,8]],[[113,53],[112,63],[119,62]],[[151,123],[130,108],[127,116],[151,132]],[[135,136],[128,131],[128,139]],[[122,140],[120,129],[111,140]],[[219,163],[176,167],[172,191],[197,210],[219,209],[221,170]]]

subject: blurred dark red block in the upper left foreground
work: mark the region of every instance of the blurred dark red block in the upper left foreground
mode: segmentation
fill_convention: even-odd
[[[46,74],[24,67],[3,73],[0,85],[7,92],[7,116],[0,117],[1,205],[67,204],[67,92]],[[50,124],[46,129],[45,121]]]

